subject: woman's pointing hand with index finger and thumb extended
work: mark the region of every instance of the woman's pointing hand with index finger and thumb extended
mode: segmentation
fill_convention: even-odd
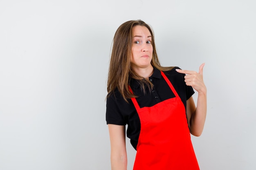
[[[183,73],[185,75],[185,82],[187,86],[192,86],[198,93],[206,93],[206,86],[203,81],[203,68],[204,63],[199,67],[199,72],[196,71],[188,71],[188,70],[180,70],[176,69],[178,73]]]

